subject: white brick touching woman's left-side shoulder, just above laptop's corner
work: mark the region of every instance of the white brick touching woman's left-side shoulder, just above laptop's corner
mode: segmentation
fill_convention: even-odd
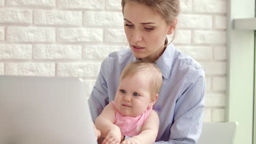
[[[100,63],[59,63],[57,76],[72,76],[96,79],[100,71]]]

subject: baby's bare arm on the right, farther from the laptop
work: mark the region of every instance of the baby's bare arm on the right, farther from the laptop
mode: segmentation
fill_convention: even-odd
[[[141,144],[152,144],[155,142],[156,136],[158,135],[159,128],[159,117],[158,113],[152,110],[146,121],[144,122],[141,133],[139,135],[133,136],[127,139],[123,143],[141,143]]]

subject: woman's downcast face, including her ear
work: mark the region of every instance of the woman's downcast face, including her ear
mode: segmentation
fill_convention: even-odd
[[[133,55],[150,62],[164,52],[166,35],[173,32],[160,13],[133,3],[125,4],[124,29]]]

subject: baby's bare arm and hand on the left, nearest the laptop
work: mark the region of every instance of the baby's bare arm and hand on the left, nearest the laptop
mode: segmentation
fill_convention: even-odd
[[[120,143],[121,131],[117,125],[114,124],[115,110],[112,103],[108,104],[101,115],[95,120],[95,127],[101,131],[101,135],[105,137],[102,143],[115,142]]]

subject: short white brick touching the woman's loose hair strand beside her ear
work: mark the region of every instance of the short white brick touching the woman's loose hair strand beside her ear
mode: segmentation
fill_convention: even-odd
[[[172,39],[172,35],[167,35],[168,39]],[[191,44],[191,31],[176,29],[174,44]]]

